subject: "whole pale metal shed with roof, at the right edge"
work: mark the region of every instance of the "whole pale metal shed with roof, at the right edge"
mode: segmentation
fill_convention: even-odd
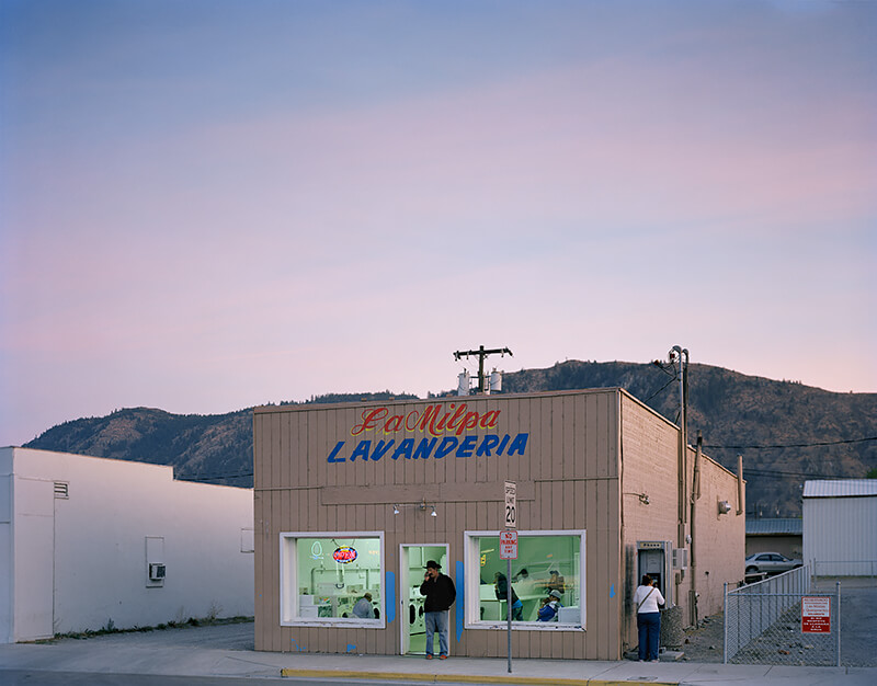
[[[877,574],[877,479],[806,481],[804,561],[828,576]]]

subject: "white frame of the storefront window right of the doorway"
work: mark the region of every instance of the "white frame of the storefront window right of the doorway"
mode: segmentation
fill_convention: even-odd
[[[485,621],[480,619],[480,569],[481,569],[481,551],[478,546],[478,540],[487,536],[498,537],[499,530],[478,530],[478,531],[463,531],[463,564],[466,579],[464,580],[466,607],[464,609],[465,619],[464,627],[466,629],[508,629],[508,620],[491,620]],[[536,536],[578,536],[579,537],[579,624],[559,624],[555,621],[513,621],[512,629],[516,631],[584,631],[586,628],[585,611],[585,529],[554,529],[554,530],[522,530],[517,534],[519,540],[522,537],[536,537]],[[511,580],[510,580],[511,583]],[[471,599],[470,599],[471,598]]]

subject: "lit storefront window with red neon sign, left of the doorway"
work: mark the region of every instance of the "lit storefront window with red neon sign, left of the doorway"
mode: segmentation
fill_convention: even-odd
[[[384,626],[381,533],[282,534],[281,624]]]

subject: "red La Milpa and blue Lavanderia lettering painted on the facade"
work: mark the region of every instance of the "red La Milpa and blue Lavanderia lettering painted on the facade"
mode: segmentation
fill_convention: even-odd
[[[529,434],[492,433],[497,428],[502,410],[476,412],[465,402],[448,405],[430,404],[422,411],[411,410],[407,414],[391,414],[386,407],[363,410],[362,422],[354,424],[350,435],[356,441],[339,441],[327,461],[332,464],[377,462],[384,458],[442,459],[501,457],[524,455]],[[477,432],[476,435],[469,432]],[[481,433],[486,432],[486,433]],[[421,438],[401,438],[399,433],[421,433]],[[469,435],[464,435],[469,434]]]

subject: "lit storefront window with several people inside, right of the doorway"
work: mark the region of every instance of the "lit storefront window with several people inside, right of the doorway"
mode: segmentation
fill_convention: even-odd
[[[508,561],[500,559],[496,531],[466,534],[467,625],[504,627],[510,607]],[[512,560],[513,627],[584,626],[584,531],[521,531]],[[554,593],[553,593],[554,592]]]

